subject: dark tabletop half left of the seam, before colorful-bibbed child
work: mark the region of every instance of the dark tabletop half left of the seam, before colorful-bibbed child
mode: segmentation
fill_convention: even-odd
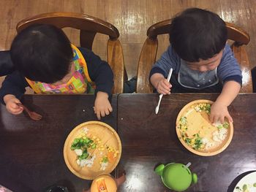
[[[42,115],[31,120],[26,114],[10,115],[1,105],[0,113],[0,183],[12,191],[43,191],[49,185],[66,185],[69,191],[89,188],[69,171],[63,158],[65,139],[78,124],[97,120],[93,95],[25,95],[29,109]],[[113,112],[102,121],[116,127],[117,96]]]

